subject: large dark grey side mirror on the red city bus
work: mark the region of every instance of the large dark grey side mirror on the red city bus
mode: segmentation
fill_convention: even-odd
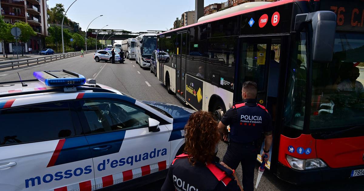
[[[313,29],[313,61],[328,63],[334,53],[336,14],[331,11],[317,11],[309,14]]]

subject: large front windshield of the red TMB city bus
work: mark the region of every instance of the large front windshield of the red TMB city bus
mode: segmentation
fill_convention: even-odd
[[[310,129],[364,124],[364,34],[337,32],[331,63],[312,65]]]

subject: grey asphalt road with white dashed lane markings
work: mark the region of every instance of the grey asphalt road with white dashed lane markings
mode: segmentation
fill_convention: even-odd
[[[68,59],[54,61],[52,63],[37,65],[15,71],[0,72],[0,82],[19,80],[17,72],[21,78],[34,79],[33,71],[61,70],[66,69],[84,75],[86,78],[94,78],[97,83],[108,85],[127,93],[139,100],[154,100],[183,106],[174,95],[167,93],[165,86],[156,78],[149,69],[142,69],[135,61],[126,60],[125,64],[111,64],[110,62],[95,62],[93,54],[86,54],[85,57],[71,57]],[[150,86],[149,86],[149,85]],[[223,158],[227,145],[219,143],[218,157]],[[258,164],[256,166],[255,180],[257,178]],[[237,176],[241,180],[241,167],[237,169]],[[255,181],[254,180],[254,181]],[[135,190],[160,190],[163,180],[135,188]],[[269,171],[265,171],[258,189],[264,191],[303,191],[303,190],[363,190],[363,182],[359,179],[341,180],[335,182],[325,182],[320,184],[308,184],[295,186],[286,183]]]

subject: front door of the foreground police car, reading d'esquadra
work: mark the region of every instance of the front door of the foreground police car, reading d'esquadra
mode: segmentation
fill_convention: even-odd
[[[158,172],[170,164],[169,131],[163,119],[122,100],[79,103],[83,124],[88,125],[84,130],[94,161],[96,188]],[[149,132],[149,118],[160,122],[159,131]]]

